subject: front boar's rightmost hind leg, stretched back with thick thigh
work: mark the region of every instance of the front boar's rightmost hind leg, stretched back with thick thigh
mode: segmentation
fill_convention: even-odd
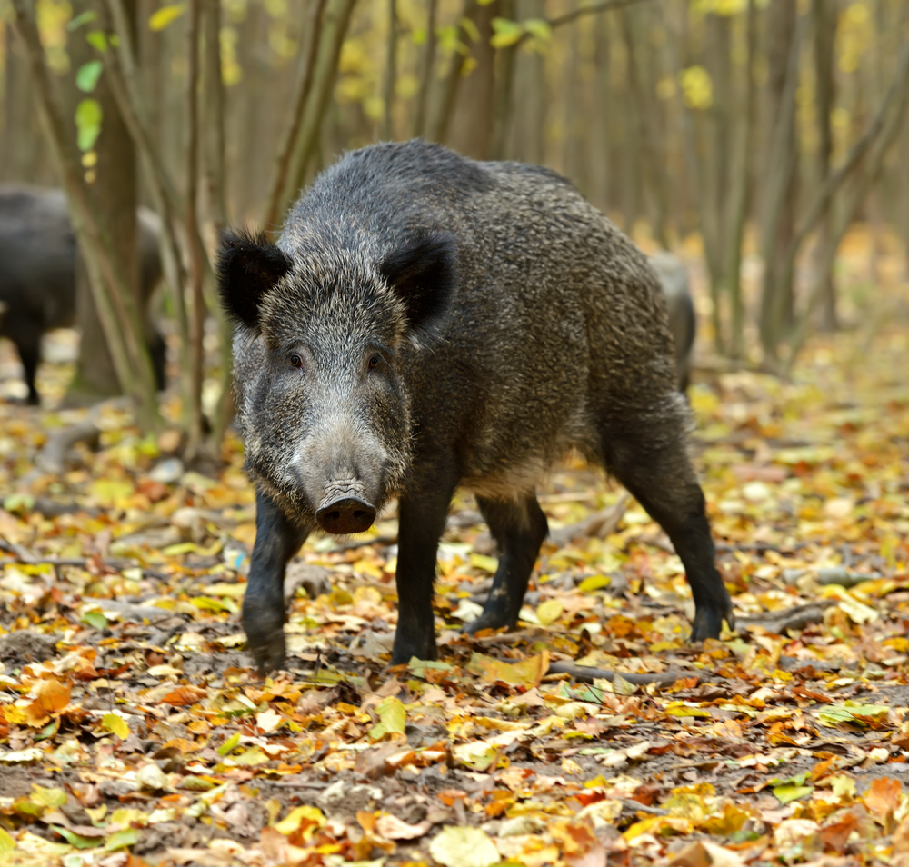
[[[663,527],[684,564],[694,596],[691,640],[718,638],[734,626],[732,602],[714,563],[704,493],[685,453],[684,416],[666,406],[659,418],[606,426],[606,464]],[[648,414],[649,415],[649,414]]]

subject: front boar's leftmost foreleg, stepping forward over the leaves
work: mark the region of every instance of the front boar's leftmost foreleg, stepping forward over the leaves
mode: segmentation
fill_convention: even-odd
[[[285,662],[285,566],[308,530],[290,523],[271,497],[255,496],[255,545],[243,597],[243,628],[260,672]]]

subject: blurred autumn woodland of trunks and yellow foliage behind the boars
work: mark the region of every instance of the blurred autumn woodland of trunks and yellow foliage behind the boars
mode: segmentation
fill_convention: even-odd
[[[841,324],[851,224],[872,226],[877,258],[909,244],[899,0],[4,0],[0,13],[0,178],[65,186],[91,278],[85,345],[109,347],[71,390],[122,389],[145,428],[163,424],[129,304],[131,214],[149,204],[190,453],[206,437],[216,449],[230,414],[218,230],[276,233],[347,148],[423,135],[551,166],[645,248],[694,244],[707,344],[774,372]]]

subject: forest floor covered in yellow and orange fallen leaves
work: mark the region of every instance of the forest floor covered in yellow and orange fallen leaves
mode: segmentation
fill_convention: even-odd
[[[305,545],[289,671],[263,680],[239,444],[219,478],[184,473],[172,433],[112,406],[47,472],[85,413],[0,404],[0,862],[909,864],[909,286],[885,290],[792,382],[694,385],[738,617],[703,646],[659,528],[570,464],[540,492],[555,541],[517,632],[459,632],[495,563],[461,498],[438,663],[385,670],[385,516]]]

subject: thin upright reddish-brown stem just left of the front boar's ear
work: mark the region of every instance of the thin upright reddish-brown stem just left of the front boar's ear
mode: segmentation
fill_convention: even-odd
[[[202,22],[201,0],[190,0],[186,27],[188,69],[186,75],[186,236],[191,238],[198,225],[196,208],[199,194],[199,31]],[[205,300],[202,296],[202,255],[197,244],[189,244],[191,317],[189,329],[189,431],[186,453],[190,460],[199,456],[205,436],[202,416],[202,384],[205,336]]]

